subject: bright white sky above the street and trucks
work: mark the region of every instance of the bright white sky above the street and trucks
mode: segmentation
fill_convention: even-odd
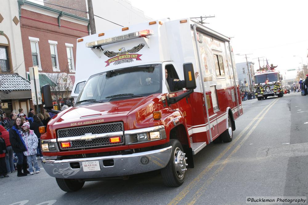
[[[213,16],[205,26],[232,38],[235,54],[247,55],[248,61],[259,67],[257,57],[267,58],[285,79],[295,78],[302,63],[307,65],[308,1],[293,0],[129,0],[132,6],[153,19],[171,20]],[[296,56],[296,57],[294,57]],[[261,59],[262,59],[261,58]],[[245,62],[245,56],[235,56],[235,62]],[[260,62],[261,66],[263,61]],[[266,64],[266,62],[265,62]]]

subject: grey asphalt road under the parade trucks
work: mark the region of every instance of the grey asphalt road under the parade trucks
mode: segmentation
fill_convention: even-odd
[[[0,179],[0,204],[246,204],[247,197],[307,196],[307,102],[300,93],[243,102],[233,141],[198,152],[177,188],[165,187],[154,172],[86,182],[66,193],[42,169]]]

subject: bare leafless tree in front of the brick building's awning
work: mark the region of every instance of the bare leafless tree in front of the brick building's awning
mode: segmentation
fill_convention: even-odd
[[[63,73],[46,73],[47,77],[53,82],[50,84],[50,90],[57,100],[58,110],[61,109],[61,102],[64,101],[64,98],[71,96],[70,93],[73,89],[71,78],[67,74],[68,72],[69,68],[67,66]]]

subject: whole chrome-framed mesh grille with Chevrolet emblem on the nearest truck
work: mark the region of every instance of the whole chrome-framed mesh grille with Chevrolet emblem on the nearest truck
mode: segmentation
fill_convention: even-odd
[[[98,124],[98,125],[90,125],[90,126],[83,126],[83,127],[74,127],[74,128],[66,128],[66,129],[59,129],[57,131],[58,138],[64,137],[76,137],[76,136],[84,136],[88,133],[92,135],[95,134],[102,134],[102,133],[112,133],[112,132],[121,132],[122,135],[120,136],[120,142],[117,143],[110,143],[109,137],[101,137],[95,138],[92,140],[66,140],[71,141],[71,147],[69,148],[61,148],[60,143],[59,147],[64,149],[81,149],[81,148],[92,148],[92,147],[104,147],[110,145],[118,145],[124,143],[124,128],[122,122],[117,123],[108,123],[108,124]]]

